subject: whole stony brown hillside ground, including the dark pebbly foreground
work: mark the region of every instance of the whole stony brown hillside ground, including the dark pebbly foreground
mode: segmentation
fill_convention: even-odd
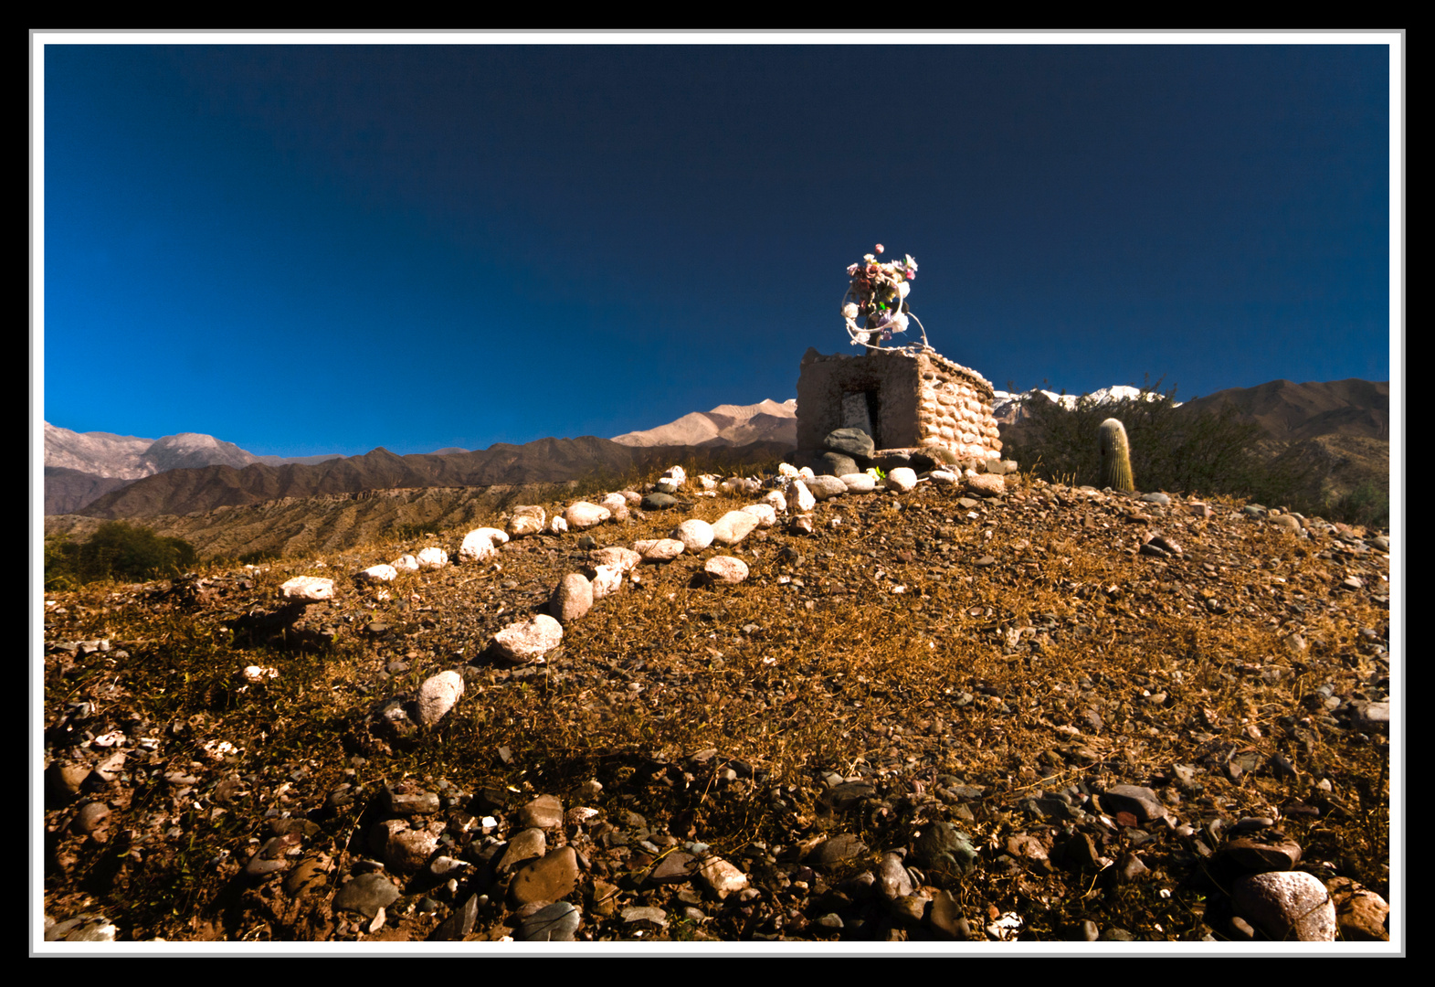
[[[47,595],[44,938],[1388,938],[1388,540],[1006,486],[644,563],[524,665],[590,546],[756,497]]]

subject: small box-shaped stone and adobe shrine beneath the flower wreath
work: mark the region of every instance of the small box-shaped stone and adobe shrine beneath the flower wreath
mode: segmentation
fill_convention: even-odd
[[[944,447],[996,460],[992,382],[934,349],[824,356],[808,349],[798,375],[798,448],[821,450],[837,428],[864,428],[880,450]]]

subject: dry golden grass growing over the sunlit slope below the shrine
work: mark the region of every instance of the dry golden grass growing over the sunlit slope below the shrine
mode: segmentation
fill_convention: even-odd
[[[1032,938],[1063,938],[1091,915],[1168,938],[1208,931],[1201,865],[1181,853],[1152,858],[1164,868],[1157,885],[1188,888],[1175,896],[1158,895],[1151,882],[1102,891],[1091,875],[1032,872],[1009,866],[1003,853],[1012,836],[1035,835],[1048,846],[1062,839],[1060,825],[1032,817],[1023,799],[1071,784],[1159,787],[1185,764],[1200,771],[1203,790],[1175,797],[1181,819],[1200,828],[1215,816],[1286,815],[1286,832],[1307,848],[1306,865],[1383,891],[1389,747],[1380,736],[1333,730],[1310,698],[1320,687],[1362,694],[1389,675],[1388,657],[1360,634],[1385,628],[1388,611],[1372,592],[1337,589],[1353,563],[1319,557],[1329,539],[1297,539],[1228,510],[1200,520],[1180,504],[1139,504],[1147,520],[1132,522],[1138,506],[1125,499],[1092,499],[1029,476],[1013,487],[1004,503],[973,507],[927,486],[900,500],[827,501],[812,537],[779,529],[749,536],[738,553],[752,576],[739,586],[703,585],[702,559],[644,565],[637,585],[570,625],[537,671],[497,665],[482,652],[495,631],[581,566],[578,533],[511,543],[498,569],[406,575],[383,590],[346,576],[429,543],[456,553],[464,532],[205,572],[214,592],[198,603],[113,585],[52,596],[49,641],[109,638],[128,655],[98,652],[69,667],[60,654],[47,658],[47,757],[90,757],[55,736],[82,698],[102,707],[105,724],[161,743],[136,754],[129,786],[108,793],[125,820],[116,833],[138,840],[133,852],[96,853],[60,833],[69,809],[46,813],[56,830],[47,914],[98,902],[123,912],[135,938],[185,938],[197,911],[232,937],[250,922],[265,938],[323,938],[278,904],[265,917],[244,898],[237,917],[235,896],[244,895],[235,875],[248,840],[264,835],[264,810],[278,807],[309,815],[319,828],[313,845],[350,859],[356,819],[324,813],[326,793],[343,783],[372,792],[405,777],[515,799],[598,779],[598,807],[610,816],[633,810],[664,820],[673,836],[728,858],[758,842],[792,848],[828,832],[857,832],[874,852],[900,846],[960,802],[956,819],[984,866],[950,888],[973,921],[987,908],[1019,909]],[[571,499],[583,493],[604,490]],[[591,533],[600,545],[631,545],[664,537],[683,517],[716,520],[751,500],[695,497],[680,513]],[[1185,557],[1137,555],[1139,534],[1152,527],[1182,543]],[[733,552],[702,556],[716,553]],[[293,652],[237,642],[241,615],[273,608],[291,575],[339,578],[339,599],[310,608],[300,626],[329,628],[333,644]],[[367,631],[373,622],[389,631]],[[1304,651],[1289,647],[1294,632]],[[250,664],[280,675],[245,684],[240,671]],[[468,691],[438,727],[390,738],[387,750],[363,747],[373,710],[462,665]],[[205,744],[217,740],[241,753],[215,761]],[[1266,767],[1231,777],[1225,759],[1250,747]],[[740,769],[735,782],[674,767],[710,749],[712,764]],[[1293,773],[1270,767],[1277,754]],[[238,774],[253,794],[218,815],[208,794],[204,810],[179,810],[164,782],[177,770],[201,776],[199,793]],[[822,803],[829,773],[870,779],[888,794],[834,812]],[[1323,780],[1329,792],[1317,787]],[[957,784],[982,794],[931,799]],[[1287,813],[1296,805],[1319,806],[1320,815]],[[178,836],[168,835],[175,829]],[[842,865],[829,884],[862,866],[871,861]]]

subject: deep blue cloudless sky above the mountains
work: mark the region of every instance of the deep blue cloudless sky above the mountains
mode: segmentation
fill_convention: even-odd
[[[32,73],[65,428],[428,453],[784,401],[877,243],[997,388],[1391,378],[1388,34],[131,37]]]

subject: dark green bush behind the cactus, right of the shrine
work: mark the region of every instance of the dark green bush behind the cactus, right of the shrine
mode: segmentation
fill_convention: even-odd
[[[1096,435],[1106,418],[1126,428],[1139,490],[1231,494],[1294,507],[1309,478],[1300,474],[1303,467],[1273,464],[1260,454],[1260,425],[1240,421],[1228,405],[1201,414],[1178,408],[1175,388],[1147,388],[1139,397],[1106,404],[1082,398],[1073,411],[1049,401],[1030,401],[1026,409],[1029,417],[1015,430],[1009,451],[1043,480],[1101,483]]]

